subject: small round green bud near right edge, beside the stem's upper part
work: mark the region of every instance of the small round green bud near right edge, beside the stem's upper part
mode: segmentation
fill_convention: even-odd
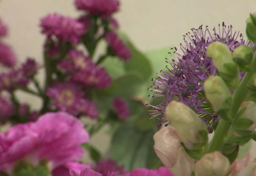
[[[248,65],[252,62],[253,51],[247,45],[238,46],[233,52],[234,60],[241,65]]]

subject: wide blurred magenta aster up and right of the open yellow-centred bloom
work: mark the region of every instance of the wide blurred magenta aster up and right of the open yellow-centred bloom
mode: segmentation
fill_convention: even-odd
[[[111,78],[104,68],[94,66],[74,73],[71,77],[76,83],[85,88],[96,86],[97,88],[108,88]]]

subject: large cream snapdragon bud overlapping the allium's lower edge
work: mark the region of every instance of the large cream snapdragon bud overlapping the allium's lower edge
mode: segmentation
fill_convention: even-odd
[[[199,131],[207,131],[207,127],[193,110],[181,102],[171,101],[165,108],[165,116],[175,127],[186,148],[190,150],[202,148],[195,148],[193,143],[206,142],[201,141]]]

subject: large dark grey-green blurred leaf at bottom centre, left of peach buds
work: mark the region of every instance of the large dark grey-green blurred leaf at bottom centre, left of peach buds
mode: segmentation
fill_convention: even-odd
[[[110,154],[118,164],[128,171],[134,168],[156,168],[161,161],[156,156],[153,145],[155,129],[140,131],[132,121],[126,121],[115,132]]]

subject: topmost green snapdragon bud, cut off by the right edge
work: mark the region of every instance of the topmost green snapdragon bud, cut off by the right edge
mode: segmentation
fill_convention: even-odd
[[[256,12],[246,19],[246,34],[249,40],[256,43]]]

